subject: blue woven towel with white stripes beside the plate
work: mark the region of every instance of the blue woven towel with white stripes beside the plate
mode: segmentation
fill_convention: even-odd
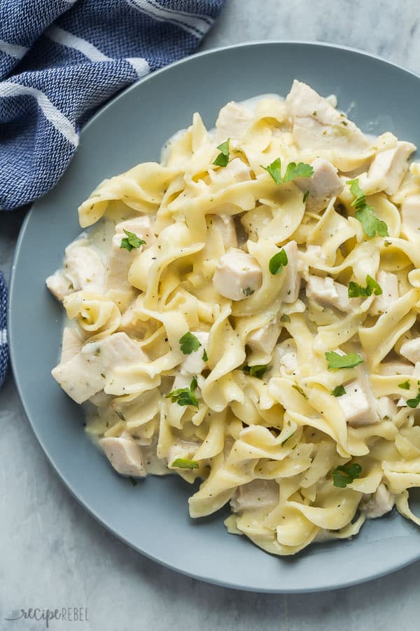
[[[110,97],[193,52],[224,0],[0,0],[0,209],[49,191]],[[0,272],[0,385],[6,374]]]

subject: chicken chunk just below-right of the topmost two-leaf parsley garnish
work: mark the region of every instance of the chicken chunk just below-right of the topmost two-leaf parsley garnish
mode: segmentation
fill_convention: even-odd
[[[306,210],[318,212],[328,206],[332,197],[339,195],[344,184],[337,175],[337,169],[330,162],[316,158],[311,164],[314,169],[312,177],[297,177],[295,184],[301,191],[308,191]]]

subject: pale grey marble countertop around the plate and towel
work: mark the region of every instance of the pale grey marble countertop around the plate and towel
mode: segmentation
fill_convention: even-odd
[[[420,74],[419,0],[227,0],[201,48],[268,39],[354,46]],[[23,217],[0,213],[6,275]],[[0,391],[0,422],[1,631],[45,628],[4,620],[29,607],[87,608],[89,620],[52,622],[52,630],[419,629],[420,562],[365,585],[311,595],[201,583],[133,552],[85,513],[45,459],[10,374]]]

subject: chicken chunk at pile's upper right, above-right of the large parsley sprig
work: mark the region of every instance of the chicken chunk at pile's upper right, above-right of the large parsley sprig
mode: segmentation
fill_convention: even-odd
[[[405,142],[404,140],[398,141],[397,146],[393,149],[379,151],[379,154],[374,156],[367,177],[372,180],[380,179],[384,182],[386,194],[395,194],[401,184],[402,177],[408,170],[407,160],[413,151],[416,151],[416,146],[412,142]]]

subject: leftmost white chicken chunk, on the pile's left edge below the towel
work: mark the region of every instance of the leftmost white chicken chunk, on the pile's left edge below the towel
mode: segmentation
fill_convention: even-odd
[[[45,281],[59,301],[80,290],[98,293],[104,290],[104,264],[99,254],[87,243],[87,239],[81,238],[67,245],[63,269],[57,270]]]

